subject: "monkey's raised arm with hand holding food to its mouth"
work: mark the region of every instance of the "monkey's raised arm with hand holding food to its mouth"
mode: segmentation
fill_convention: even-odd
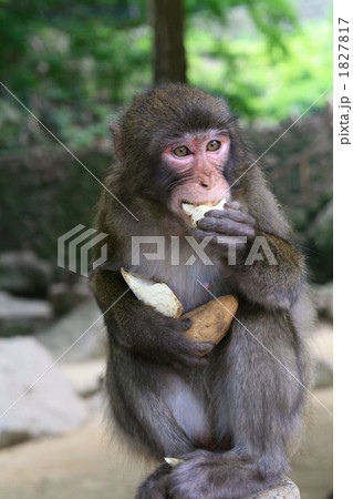
[[[263,231],[238,202],[206,213],[198,227],[200,237],[212,236],[214,251],[222,259],[228,278],[250,302],[290,308],[297,301],[305,281],[303,257],[284,237]],[[239,237],[243,242],[239,243]]]

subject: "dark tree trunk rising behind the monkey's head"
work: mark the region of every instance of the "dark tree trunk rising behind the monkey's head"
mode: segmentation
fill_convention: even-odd
[[[183,0],[149,0],[154,32],[154,82],[186,83]]]

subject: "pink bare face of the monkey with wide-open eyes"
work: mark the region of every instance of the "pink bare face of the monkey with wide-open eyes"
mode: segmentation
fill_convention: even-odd
[[[220,200],[229,200],[229,185],[224,176],[229,147],[226,133],[210,130],[188,133],[168,144],[163,152],[165,163],[187,179],[173,191],[169,207],[188,224],[189,217],[181,203],[217,204]]]

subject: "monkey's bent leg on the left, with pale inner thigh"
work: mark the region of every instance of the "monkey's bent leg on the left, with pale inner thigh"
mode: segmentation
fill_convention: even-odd
[[[106,387],[114,418],[128,441],[159,461],[193,452],[209,439],[201,397],[170,369],[115,349]],[[157,468],[137,497],[167,497],[169,471],[168,465]]]

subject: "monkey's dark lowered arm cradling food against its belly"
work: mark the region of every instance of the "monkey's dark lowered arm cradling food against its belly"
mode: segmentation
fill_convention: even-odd
[[[91,288],[104,314],[110,339],[121,348],[175,366],[198,366],[214,347],[210,342],[196,343],[183,332],[190,320],[165,317],[139,302],[117,272],[97,268]]]

